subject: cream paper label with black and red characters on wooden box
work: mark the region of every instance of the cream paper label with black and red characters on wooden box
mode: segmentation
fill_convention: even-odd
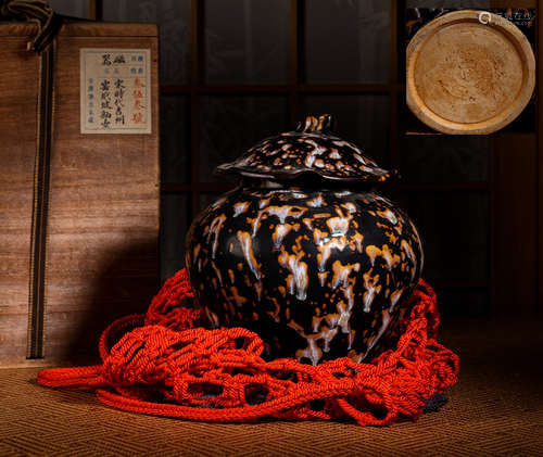
[[[151,51],[80,50],[81,134],[151,134]]]

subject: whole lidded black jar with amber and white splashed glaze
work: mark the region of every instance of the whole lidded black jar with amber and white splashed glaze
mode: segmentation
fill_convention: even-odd
[[[390,173],[331,123],[310,116],[220,165],[240,186],[187,236],[187,269],[210,323],[256,331],[269,358],[376,355],[420,277],[417,229],[371,190]]]

